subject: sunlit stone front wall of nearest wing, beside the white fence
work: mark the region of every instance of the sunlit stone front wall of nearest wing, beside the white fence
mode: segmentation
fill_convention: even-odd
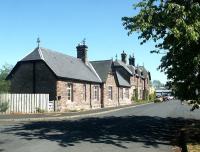
[[[68,100],[67,85],[72,84],[72,101]],[[86,92],[85,92],[85,86]],[[99,98],[94,98],[94,86],[99,87]],[[57,81],[58,110],[86,110],[101,107],[100,85],[75,81]]]

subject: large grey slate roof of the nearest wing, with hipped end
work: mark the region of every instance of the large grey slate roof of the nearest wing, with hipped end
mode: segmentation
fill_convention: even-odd
[[[46,48],[37,47],[22,61],[43,60],[60,78],[70,78],[82,81],[101,83],[92,65],[86,65],[81,59],[71,57]]]

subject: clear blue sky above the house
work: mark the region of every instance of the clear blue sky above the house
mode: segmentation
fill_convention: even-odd
[[[167,81],[157,70],[161,55],[151,54],[153,42],[140,45],[138,33],[131,36],[121,18],[134,16],[138,0],[4,0],[0,5],[0,67],[15,65],[40,46],[76,57],[76,46],[85,38],[89,60],[121,59],[134,54],[152,80]]]

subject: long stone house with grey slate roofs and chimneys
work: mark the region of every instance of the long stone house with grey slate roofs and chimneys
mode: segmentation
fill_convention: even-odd
[[[38,44],[7,76],[11,92],[47,93],[58,111],[131,104],[136,89],[144,98],[149,76],[144,67],[135,67],[134,57],[127,64],[123,51],[121,60],[89,61],[85,42],[76,49],[77,58]]]

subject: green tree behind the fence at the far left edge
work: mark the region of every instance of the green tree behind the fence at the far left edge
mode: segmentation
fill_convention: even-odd
[[[0,69],[0,93],[10,91],[10,82],[6,81],[7,75],[10,73],[12,66],[5,64]]]

